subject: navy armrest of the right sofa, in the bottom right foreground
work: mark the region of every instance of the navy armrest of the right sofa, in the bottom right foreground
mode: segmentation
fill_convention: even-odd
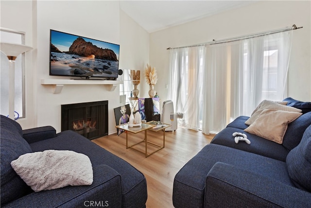
[[[311,193],[218,162],[208,172],[205,207],[311,207]]]

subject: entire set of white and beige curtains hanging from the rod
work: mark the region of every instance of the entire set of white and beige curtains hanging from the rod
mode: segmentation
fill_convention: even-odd
[[[262,100],[286,97],[292,33],[171,49],[169,99],[185,126],[217,133]]]

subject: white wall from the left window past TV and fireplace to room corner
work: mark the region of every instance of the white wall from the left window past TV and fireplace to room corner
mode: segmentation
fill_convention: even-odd
[[[34,122],[17,120],[23,129],[51,125],[60,132],[62,104],[108,100],[108,133],[116,132],[113,109],[120,106],[119,87],[110,92],[105,85],[65,85],[53,94],[53,87],[41,85],[41,79],[69,78],[49,75],[50,29],[120,44],[121,69],[148,63],[149,34],[120,13],[119,1],[1,1],[1,27],[25,31],[26,44],[35,48],[33,66],[27,67],[32,74],[26,77],[34,86],[26,88],[27,105],[33,109],[27,118]]]

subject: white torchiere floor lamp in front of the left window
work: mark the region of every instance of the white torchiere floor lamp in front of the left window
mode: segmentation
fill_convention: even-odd
[[[0,43],[0,50],[9,59],[9,118],[14,120],[14,108],[15,108],[15,59],[20,54],[30,51],[33,48],[26,45],[15,43]]]

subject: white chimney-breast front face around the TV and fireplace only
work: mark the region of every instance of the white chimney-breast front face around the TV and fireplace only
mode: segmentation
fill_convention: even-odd
[[[60,94],[41,79],[69,77],[49,75],[50,29],[120,44],[118,1],[37,1],[37,124],[61,130],[61,105],[108,100],[108,133],[115,132],[113,108],[119,106],[119,87],[105,85],[65,85]]]

